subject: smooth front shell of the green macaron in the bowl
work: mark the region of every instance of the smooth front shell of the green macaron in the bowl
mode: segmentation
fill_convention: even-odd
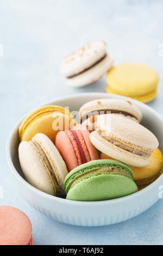
[[[120,174],[90,175],[73,185],[66,199],[100,201],[127,196],[137,191],[133,180]]]

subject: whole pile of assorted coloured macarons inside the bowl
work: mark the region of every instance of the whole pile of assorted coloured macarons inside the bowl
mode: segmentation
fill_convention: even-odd
[[[79,117],[77,124],[64,108],[44,106],[22,121],[18,155],[29,184],[52,196],[96,201],[127,196],[159,177],[158,139],[140,124],[133,103],[93,100]]]

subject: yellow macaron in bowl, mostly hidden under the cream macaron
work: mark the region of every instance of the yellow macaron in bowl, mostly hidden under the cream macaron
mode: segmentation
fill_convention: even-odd
[[[101,153],[101,159],[110,159],[109,156]],[[150,156],[150,162],[145,167],[129,166],[133,171],[134,181],[139,190],[148,186],[161,175],[163,156],[160,149],[154,149]]]

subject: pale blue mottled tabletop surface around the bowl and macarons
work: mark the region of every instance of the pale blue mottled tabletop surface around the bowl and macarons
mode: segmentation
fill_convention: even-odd
[[[70,88],[60,75],[62,58],[86,42],[105,40],[115,64],[151,65],[159,72],[159,94],[149,103],[162,114],[162,1],[1,0],[0,204],[16,206],[32,221],[35,245],[161,245],[163,200],[144,214],[108,227],[75,227],[42,216],[24,202],[12,184],[5,143],[22,115],[46,101],[83,92],[105,92],[105,78]],[[66,209],[65,209],[66,210]]]

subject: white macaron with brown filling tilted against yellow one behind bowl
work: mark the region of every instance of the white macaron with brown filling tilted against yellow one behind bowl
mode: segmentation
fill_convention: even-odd
[[[82,87],[96,82],[112,66],[114,60],[106,53],[104,41],[91,42],[66,56],[60,72],[72,87]]]

